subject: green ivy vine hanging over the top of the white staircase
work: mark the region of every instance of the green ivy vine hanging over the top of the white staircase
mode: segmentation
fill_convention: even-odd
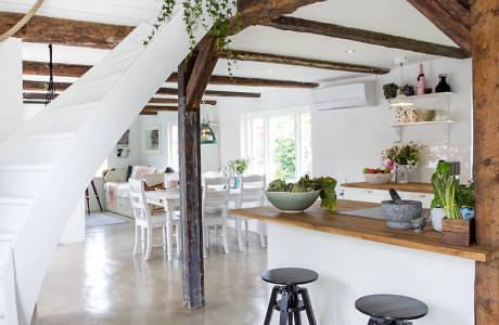
[[[179,0],[180,1],[180,0]],[[229,75],[232,76],[233,68],[233,54],[230,48],[231,40],[229,36],[232,31],[238,32],[241,29],[241,16],[236,11],[236,0],[181,0],[183,6],[183,22],[185,23],[185,31],[190,40],[190,53],[188,58],[191,57],[195,46],[194,32],[200,24],[203,28],[207,29],[208,25],[206,20],[203,18],[203,13],[206,13],[213,24],[213,34],[216,37],[216,49],[219,52],[225,52],[227,55],[227,65]],[[169,21],[174,13],[174,8],[177,0],[163,0],[163,6],[154,24],[153,30],[143,41],[146,46],[156,35],[159,27]],[[235,16],[235,20],[231,20]]]

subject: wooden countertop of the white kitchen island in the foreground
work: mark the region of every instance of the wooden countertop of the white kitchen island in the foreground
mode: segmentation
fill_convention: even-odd
[[[337,210],[355,210],[378,206],[380,205],[340,199]],[[495,249],[478,246],[461,247],[442,244],[440,234],[435,232],[431,224],[426,224],[424,229],[425,232],[422,234],[417,234],[410,230],[392,230],[386,226],[386,221],[384,220],[338,214],[320,208],[318,204],[315,204],[300,213],[285,213],[274,207],[235,209],[231,210],[230,213],[331,234],[472,259],[479,262],[489,262],[499,256],[499,248]]]

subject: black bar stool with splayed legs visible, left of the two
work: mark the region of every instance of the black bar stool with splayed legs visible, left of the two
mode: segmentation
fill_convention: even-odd
[[[316,271],[298,268],[272,269],[261,274],[261,280],[276,284],[270,295],[264,325],[270,325],[273,310],[280,312],[280,325],[292,325],[293,317],[294,324],[302,325],[299,315],[302,311],[307,313],[310,325],[317,325],[308,291],[298,285],[312,283],[318,278],[319,274]],[[281,295],[280,300],[277,299],[278,294]],[[302,296],[302,300],[299,296]]]

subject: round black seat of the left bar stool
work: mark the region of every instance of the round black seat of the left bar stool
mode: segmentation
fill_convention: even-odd
[[[299,268],[272,269],[261,274],[265,282],[285,286],[307,284],[318,278],[316,271]]]

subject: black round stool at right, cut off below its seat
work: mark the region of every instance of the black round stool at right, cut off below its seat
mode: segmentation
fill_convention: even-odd
[[[427,306],[414,298],[398,295],[364,296],[355,302],[355,308],[369,316],[368,325],[410,325],[410,320],[427,314]]]

